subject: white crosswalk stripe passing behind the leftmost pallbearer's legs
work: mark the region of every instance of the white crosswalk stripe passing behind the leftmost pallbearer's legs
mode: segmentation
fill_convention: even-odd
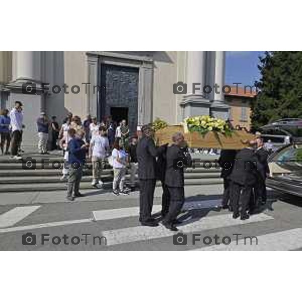
[[[155,204],[153,206],[154,212],[160,211],[161,209],[162,206],[159,204]],[[139,212],[139,208],[137,206],[92,211],[92,220],[98,221],[98,220],[108,220],[108,219],[138,216],[138,212]]]

